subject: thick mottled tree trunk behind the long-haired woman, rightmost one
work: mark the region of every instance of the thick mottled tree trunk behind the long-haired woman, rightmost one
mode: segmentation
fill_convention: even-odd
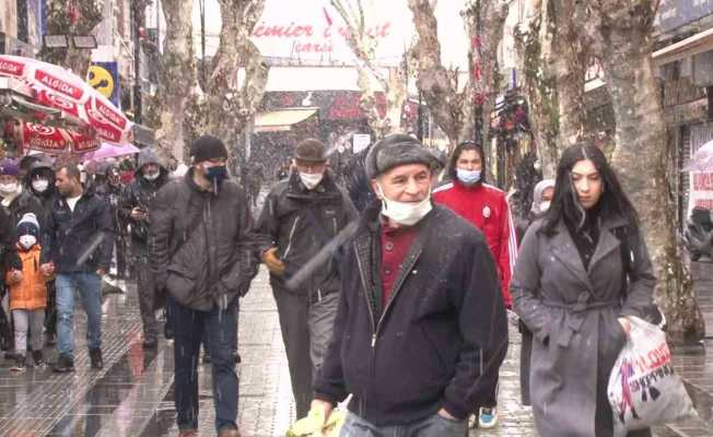
[[[651,61],[658,1],[597,0],[595,4],[617,120],[613,165],[641,216],[658,279],[655,298],[666,314],[670,340],[694,342],[704,326],[676,240],[666,175],[666,123]]]

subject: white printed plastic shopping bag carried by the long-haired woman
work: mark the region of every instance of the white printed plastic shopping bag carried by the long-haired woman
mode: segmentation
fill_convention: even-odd
[[[664,331],[636,317],[628,320],[631,331],[609,377],[615,436],[696,414],[683,382],[674,374]]]

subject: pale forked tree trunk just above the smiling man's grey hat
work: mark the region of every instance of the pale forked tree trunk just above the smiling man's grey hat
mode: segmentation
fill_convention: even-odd
[[[362,0],[355,1],[355,10],[353,0],[351,3],[349,0],[331,0],[331,5],[349,28],[347,44],[359,60],[356,69],[359,71],[359,87],[362,92],[361,107],[366,114],[370,128],[377,138],[383,138],[402,130],[401,113],[408,98],[407,76],[404,68],[406,66],[390,68],[388,76],[384,78],[378,68],[372,63],[376,48],[375,38],[366,32],[369,25]],[[375,86],[374,80],[378,87]],[[378,111],[376,105],[376,94],[379,91],[384,93],[386,99],[384,116]]]

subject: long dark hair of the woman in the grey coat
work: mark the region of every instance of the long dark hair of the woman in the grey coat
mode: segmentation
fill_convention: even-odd
[[[588,141],[581,141],[569,146],[562,153],[562,158],[557,167],[557,179],[554,182],[554,196],[552,204],[545,215],[542,232],[553,234],[560,220],[573,224],[580,229],[586,218],[586,211],[577,200],[574,182],[572,181],[572,168],[580,161],[589,160],[599,172],[604,184],[604,192],[597,203],[599,216],[604,220],[617,215],[629,222],[629,228],[639,231],[639,214],[629,201],[629,198],[621,189],[613,169],[607,162],[604,153]]]

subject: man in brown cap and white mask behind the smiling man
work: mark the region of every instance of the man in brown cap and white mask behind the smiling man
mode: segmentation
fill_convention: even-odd
[[[297,417],[309,411],[312,381],[322,365],[339,305],[335,259],[316,269],[295,290],[285,286],[356,212],[327,170],[325,145],[313,139],[297,144],[294,170],[267,197],[258,228],[271,240],[262,260],[278,305]]]

